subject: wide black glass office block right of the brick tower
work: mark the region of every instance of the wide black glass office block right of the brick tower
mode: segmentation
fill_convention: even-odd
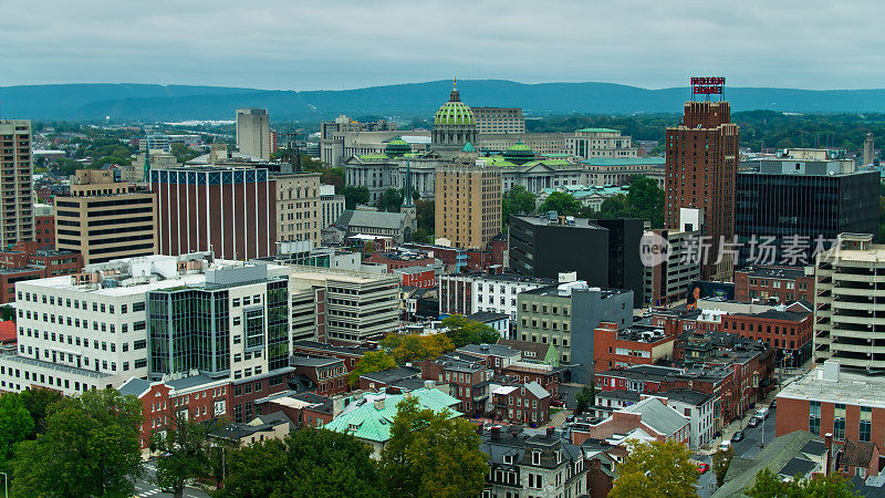
[[[879,173],[853,169],[839,159],[778,158],[759,162],[758,172],[739,173],[739,267],[811,264],[814,251],[829,248],[839,234],[877,234]],[[761,243],[771,251],[763,253]]]

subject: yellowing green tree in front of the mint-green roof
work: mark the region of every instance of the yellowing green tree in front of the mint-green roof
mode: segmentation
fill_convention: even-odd
[[[421,409],[415,397],[396,406],[381,476],[388,496],[479,496],[489,471],[476,427],[447,411]]]

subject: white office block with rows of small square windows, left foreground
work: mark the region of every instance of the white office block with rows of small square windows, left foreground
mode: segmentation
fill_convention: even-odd
[[[0,388],[72,395],[146,377],[147,293],[206,286],[207,272],[232,264],[206,252],[147,256],[19,282],[18,354],[0,355]]]

